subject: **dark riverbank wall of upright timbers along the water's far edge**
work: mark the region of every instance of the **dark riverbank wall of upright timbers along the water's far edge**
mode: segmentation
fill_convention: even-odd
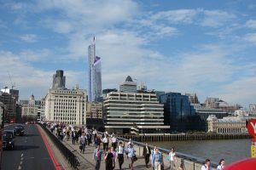
[[[138,142],[147,141],[185,141],[185,140],[215,140],[215,139],[251,139],[248,133],[199,133],[199,134],[143,134],[143,135],[118,135],[124,139],[132,139]]]

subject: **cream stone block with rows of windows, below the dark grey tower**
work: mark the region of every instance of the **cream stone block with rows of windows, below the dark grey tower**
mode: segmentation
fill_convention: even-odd
[[[86,91],[49,89],[45,96],[44,120],[73,125],[86,123]]]

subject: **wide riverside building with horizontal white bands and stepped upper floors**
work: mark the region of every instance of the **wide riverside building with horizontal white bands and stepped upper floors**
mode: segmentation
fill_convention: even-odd
[[[164,125],[163,110],[154,93],[110,92],[103,104],[104,127],[113,133],[165,133],[170,126]]]

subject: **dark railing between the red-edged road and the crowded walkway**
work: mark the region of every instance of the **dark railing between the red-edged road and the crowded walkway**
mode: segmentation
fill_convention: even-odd
[[[49,128],[47,128],[44,124],[41,124],[40,122],[38,122],[37,124],[44,129],[44,132],[48,134],[49,139],[51,139],[55,146],[61,151],[62,156],[65,156],[70,165],[74,168],[77,168],[78,160],[74,153],[71,150],[67,149],[65,144],[62,144],[61,140],[58,139],[54,133],[51,133]]]

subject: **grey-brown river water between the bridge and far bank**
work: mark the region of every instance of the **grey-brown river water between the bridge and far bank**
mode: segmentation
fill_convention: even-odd
[[[251,156],[250,139],[148,142],[148,144],[156,144],[158,147],[167,150],[174,147],[177,152],[204,159],[209,158],[211,161],[216,162],[224,158],[226,165]]]

